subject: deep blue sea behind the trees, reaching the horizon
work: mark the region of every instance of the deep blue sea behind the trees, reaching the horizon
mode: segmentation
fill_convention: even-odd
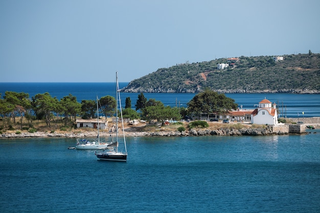
[[[127,82],[119,83],[120,88]],[[0,83],[0,93],[16,91],[29,93],[30,98],[38,93],[49,92],[52,97],[61,99],[68,94],[81,100],[96,100],[103,96],[116,96],[116,83]],[[132,108],[138,99],[139,93],[122,93],[122,105],[125,99],[130,97]],[[161,101],[165,106],[187,107],[187,103],[195,96],[195,93],[144,93],[147,99]],[[232,98],[239,108],[254,109],[264,98],[279,106],[280,116],[283,117],[315,117],[320,116],[320,94],[292,94],[292,93],[226,93]],[[304,112],[304,114],[302,113]]]

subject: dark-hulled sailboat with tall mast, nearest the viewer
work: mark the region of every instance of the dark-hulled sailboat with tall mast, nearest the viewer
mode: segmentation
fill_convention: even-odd
[[[110,161],[127,161],[127,146],[126,146],[126,138],[125,138],[125,133],[124,133],[124,126],[123,126],[123,117],[122,117],[122,107],[121,107],[121,98],[120,98],[120,88],[119,88],[119,82],[118,82],[118,72],[116,72],[116,99],[117,99],[117,104],[116,104],[116,141],[110,145],[106,149],[103,150],[101,153],[95,152],[95,155],[99,160],[110,160]],[[123,132],[123,143],[124,143],[124,152],[119,152],[118,147],[119,147],[119,128],[118,128],[118,101],[120,105],[120,115],[121,115],[121,124],[122,124],[122,132]]]

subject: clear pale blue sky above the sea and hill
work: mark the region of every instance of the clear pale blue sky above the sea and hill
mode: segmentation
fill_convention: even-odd
[[[318,0],[2,0],[0,82],[129,82],[225,57],[320,53]]]

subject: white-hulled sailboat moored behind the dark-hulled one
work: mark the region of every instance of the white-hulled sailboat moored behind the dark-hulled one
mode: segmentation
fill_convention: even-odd
[[[104,140],[100,139],[100,124],[99,124],[99,99],[97,96],[97,115],[98,115],[98,136],[97,139],[80,139],[77,138],[77,146],[76,149],[80,149],[80,150],[93,150],[93,149],[105,149],[108,147],[108,145],[110,145],[110,143],[105,143]]]

